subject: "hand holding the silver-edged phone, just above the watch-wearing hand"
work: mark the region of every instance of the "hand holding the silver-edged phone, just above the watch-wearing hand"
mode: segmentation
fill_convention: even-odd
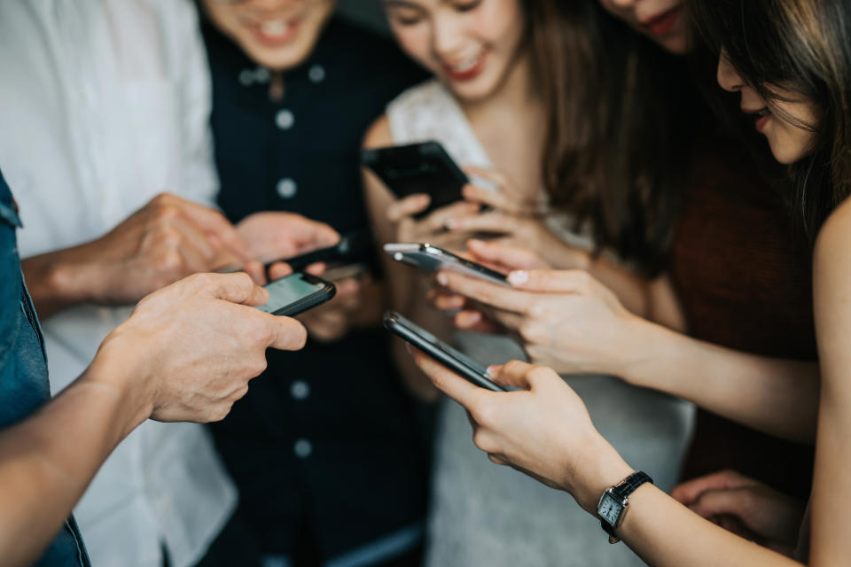
[[[535,364],[565,374],[627,377],[643,355],[644,320],[583,270],[513,271],[513,289],[449,271],[437,282],[515,334]]]

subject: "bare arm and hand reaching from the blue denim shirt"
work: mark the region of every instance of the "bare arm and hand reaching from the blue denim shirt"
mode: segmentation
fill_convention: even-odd
[[[267,348],[304,345],[298,322],[246,307],[268,299],[245,274],[170,285],[139,303],[58,398],[0,432],[4,565],[35,561],[139,423],[220,420],[265,369]]]

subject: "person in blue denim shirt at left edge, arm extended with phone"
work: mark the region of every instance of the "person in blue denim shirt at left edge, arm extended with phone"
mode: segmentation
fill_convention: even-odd
[[[0,173],[0,557],[4,565],[87,566],[68,517],[121,439],[148,418],[222,419],[267,349],[298,349],[306,333],[293,319],[247,307],[268,294],[246,274],[191,276],[143,299],[89,369],[50,400],[16,208]]]

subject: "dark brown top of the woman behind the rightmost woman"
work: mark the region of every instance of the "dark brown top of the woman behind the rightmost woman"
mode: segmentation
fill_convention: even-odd
[[[689,333],[764,356],[816,360],[811,252],[746,151],[718,144],[691,167],[670,274]],[[684,478],[738,470],[806,498],[812,447],[700,411]]]

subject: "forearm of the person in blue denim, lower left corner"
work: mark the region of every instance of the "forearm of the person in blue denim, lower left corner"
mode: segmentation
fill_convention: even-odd
[[[145,408],[90,369],[34,416],[0,433],[0,556],[37,559]]]

